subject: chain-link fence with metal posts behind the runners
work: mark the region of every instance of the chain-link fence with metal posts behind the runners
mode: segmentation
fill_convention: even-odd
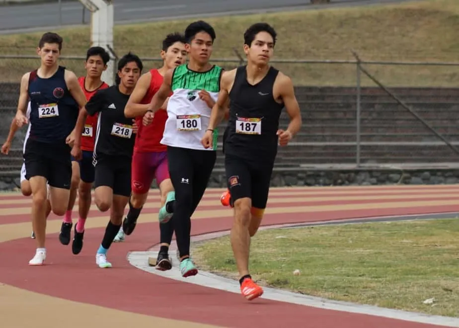
[[[229,70],[244,63],[238,57],[212,62]],[[145,72],[162,64],[159,58],[143,62]],[[83,57],[61,58],[61,64],[78,76],[85,74],[83,63]],[[273,60],[272,64],[292,78],[304,118],[301,133],[291,147],[279,151],[276,165],[457,161],[451,145],[459,143],[459,63]],[[20,78],[38,65],[33,56],[0,57],[0,142],[16,110]],[[280,125],[288,125],[285,111]],[[19,157],[24,132],[17,132],[12,145]],[[0,167],[18,169],[6,158],[0,158],[4,165]]]

